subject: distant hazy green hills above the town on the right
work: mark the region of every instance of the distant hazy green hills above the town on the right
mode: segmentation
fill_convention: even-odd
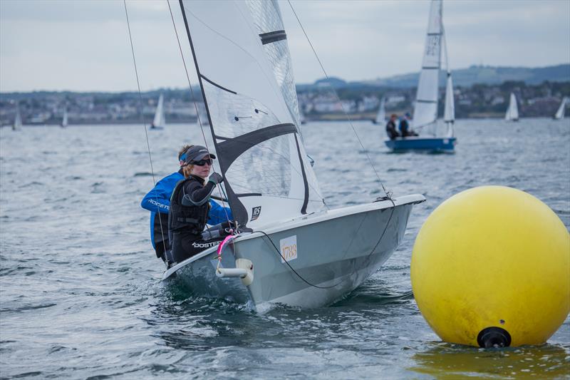
[[[340,78],[319,79],[314,84],[297,85],[298,91],[304,91],[315,86],[323,86],[331,83],[335,88],[339,87],[390,87],[390,88],[413,88],[418,86],[420,73],[408,73],[390,78],[378,78],[372,81],[345,82]],[[455,86],[469,87],[475,83],[500,84],[505,81],[523,81],[528,85],[535,85],[544,81],[566,82],[570,81],[570,64],[547,66],[538,68],[527,67],[494,67],[494,66],[471,66],[453,71],[453,84]],[[445,75],[440,76],[440,86],[445,86]]]

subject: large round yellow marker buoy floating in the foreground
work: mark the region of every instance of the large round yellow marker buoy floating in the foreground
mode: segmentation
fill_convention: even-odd
[[[427,217],[411,277],[420,312],[445,342],[542,344],[570,311],[570,234],[526,192],[473,188]]]

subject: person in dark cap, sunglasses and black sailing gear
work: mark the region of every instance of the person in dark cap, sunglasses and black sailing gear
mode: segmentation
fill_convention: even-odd
[[[185,163],[182,165],[185,180],[177,183],[172,192],[168,212],[168,235],[172,242],[174,262],[182,262],[218,245],[234,228],[228,212],[224,215],[224,222],[204,231],[211,209],[210,195],[224,180],[221,174],[212,173],[206,182],[215,158],[201,145],[194,145],[185,153]]]

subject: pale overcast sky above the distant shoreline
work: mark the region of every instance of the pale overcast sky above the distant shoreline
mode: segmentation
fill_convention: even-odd
[[[291,1],[329,76],[419,71],[430,2]],[[297,83],[323,72],[286,1]],[[127,1],[143,91],[187,85],[166,0]],[[196,84],[180,6],[170,0]],[[570,0],[444,1],[452,68],[570,63]],[[0,91],[133,91],[122,0],[0,0]]]

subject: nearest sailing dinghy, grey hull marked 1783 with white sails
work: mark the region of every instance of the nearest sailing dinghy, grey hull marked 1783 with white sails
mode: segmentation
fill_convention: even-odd
[[[199,297],[321,307],[388,260],[423,195],[327,210],[299,132],[286,33],[274,1],[180,0],[219,186],[239,234],[163,279]],[[205,131],[205,128],[204,128]],[[231,240],[231,242],[229,242]]]

